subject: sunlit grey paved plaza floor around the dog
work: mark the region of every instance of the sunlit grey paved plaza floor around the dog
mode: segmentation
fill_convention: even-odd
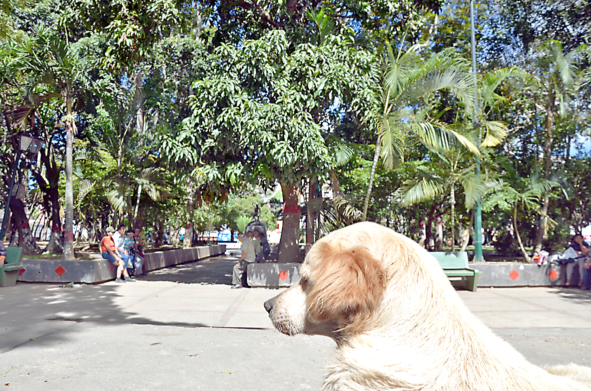
[[[230,289],[236,258],[161,269],[135,283],[0,288],[0,390],[306,390],[322,385],[327,337],[287,337],[263,303]],[[591,365],[591,293],[459,291],[535,364]]]

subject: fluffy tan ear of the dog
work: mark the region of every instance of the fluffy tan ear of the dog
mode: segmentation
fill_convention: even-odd
[[[343,318],[346,328],[367,318],[384,293],[384,272],[368,248],[340,248],[321,242],[314,252],[310,286],[306,294],[308,315],[316,322]]]

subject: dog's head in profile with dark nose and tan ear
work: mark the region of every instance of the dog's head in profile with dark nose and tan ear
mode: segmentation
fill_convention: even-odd
[[[337,338],[368,327],[382,300],[386,275],[372,243],[383,227],[360,223],[320,239],[301,265],[300,282],[265,302],[282,333]]]

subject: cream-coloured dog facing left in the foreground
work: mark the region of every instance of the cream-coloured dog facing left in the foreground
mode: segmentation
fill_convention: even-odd
[[[591,369],[541,369],[463,304],[437,260],[386,227],[319,240],[298,284],[265,302],[287,335],[337,343],[323,390],[591,390]]]

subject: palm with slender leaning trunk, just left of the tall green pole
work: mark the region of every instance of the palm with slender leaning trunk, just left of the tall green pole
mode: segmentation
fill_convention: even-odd
[[[467,73],[467,64],[462,58],[452,50],[444,50],[423,60],[419,54],[422,46],[413,45],[405,53],[399,50],[394,56],[392,47],[388,43],[385,45],[387,64],[380,95],[382,113],[376,120],[378,142],[363,203],[363,220],[367,216],[379,158],[386,168],[394,167],[404,156],[404,145],[409,136],[431,148],[461,144],[473,154],[480,155],[473,142],[439,120],[445,110],[436,116],[430,116],[428,109],[415,110],[418,100],[439,90],[452,91],[471,109],[475,94],[472,76]]]

